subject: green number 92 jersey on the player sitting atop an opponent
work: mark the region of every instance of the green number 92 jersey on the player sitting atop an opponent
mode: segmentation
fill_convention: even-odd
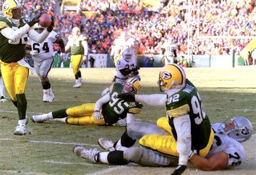
[[[207,145],[211,124],[206,116],[197,88],[186,79],[186,85],[179,92],[169,96],[166,101],[166,114],[172,128],[172,134],[177,140],[177,132],[173,124],[174,117],[190,115],[191,121],[191,149],[201,150]]]

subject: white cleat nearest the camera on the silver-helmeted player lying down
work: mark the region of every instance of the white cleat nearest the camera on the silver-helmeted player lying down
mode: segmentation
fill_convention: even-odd
[[[99,152],[100,151],[98,151],[97,148],[87,150],[83,146],[79,145],[73,148],[73,153],[78,157],[82,157],[96,163],[98,163]]]

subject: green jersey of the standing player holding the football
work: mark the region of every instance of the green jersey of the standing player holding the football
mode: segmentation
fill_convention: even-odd
[[[28,22],[29,19],[21,18],[19,20],[19,25],[16,26],[9,18],[0,16],[0,30],[4,29],[5,27],[10,27],[17,30]],[[25,57],[26,43],[28,43],[28,34],[25,34],[17,41],[11,41],[9,43],[9,39],[5,38],[0,33],[0,57],[2,57],[2,61],[6,63],[17,62]]]

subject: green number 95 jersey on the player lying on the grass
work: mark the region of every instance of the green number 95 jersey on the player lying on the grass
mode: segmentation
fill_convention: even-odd
[[[111,100],[102,107],[105,122],[108,124],[117,123],[119,118],[124,119],[127,113],[139,114],[142,111],[142,103],[127,101],[117,97],[122,92],[122,89],[123,85],[121,83],[114,83],[110,92]]]

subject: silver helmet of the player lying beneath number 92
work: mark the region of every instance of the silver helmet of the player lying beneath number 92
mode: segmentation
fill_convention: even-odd
[[[218,130],[240,143],[247,141],[253,134],[250,120],[242,116],[233,117],[230,120],[224,121]]]

